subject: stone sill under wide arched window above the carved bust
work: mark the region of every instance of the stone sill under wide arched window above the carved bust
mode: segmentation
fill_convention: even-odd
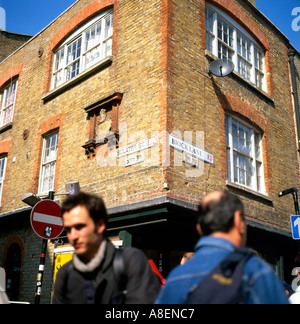
[[[107,65],[111,64],[112,61],[113,61],[112,56],[108,56],[108,57],[104,58],[103,60],[98,62],[96,65],[94,65],[94,66],[90,67],[89,69],[85,70],[84,72],[81,72],[80,74],[78,74],[73,79],[65,82],[61,86],[59,86],[59,87],[55,88],[54,90],[51,90],[48,93],[46,93],[42,97],[42,100],[45,102],[45,101],[49,101],[49,100],[53,99],[54,97],[58,96],[62,92],[64,92],[67,89],[71,88],[72,86],[74,86],[78,82],[80,82],[83,79],[87,78],[89,75],[95,73],[97,70],[102,69],[102,68],[106,67]]]

